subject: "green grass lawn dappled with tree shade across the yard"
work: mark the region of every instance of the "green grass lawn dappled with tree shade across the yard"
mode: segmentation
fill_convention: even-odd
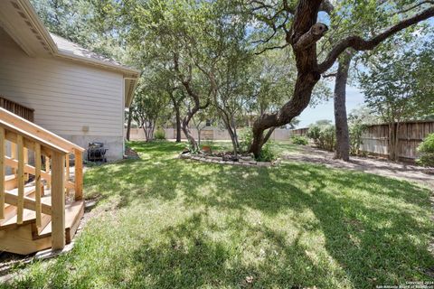
[[[432,280],[430,192],[322,165],[197,163],[184,144],[91,168],[99,196],[73,250],[23,288],[373,288]],[[293,145],[287,148],[295,149]]]

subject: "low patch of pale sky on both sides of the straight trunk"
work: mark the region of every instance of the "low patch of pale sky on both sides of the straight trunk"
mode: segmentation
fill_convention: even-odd
[[[333,87],[332,87],[333,91]],[[346,112],[350,113],[354,108],[363,105],[363,92],[360,89],[346,87]],[[316,107],[307,107],[298,117],[300,123],[297,128],[307,127],[320,119],[329,119],[335,123],[333,98],[317,105]]]

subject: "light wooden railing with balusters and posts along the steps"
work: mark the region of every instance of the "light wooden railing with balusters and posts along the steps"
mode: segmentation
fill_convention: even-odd
[[[6,152],[10,143],[11,154]],[[16,223],[22,224],[24,209],[34,210],[36,226],[42,226],[42,214],[51,215],[52,249],[65,246],[65,191],[73,190],[75,200],[82,199],[82,154],[84,149],[52,132],[36,126],[0,107],[0,219],[5,219],[5,204],[16,206]],[[34,165],[28,163],[34,154]],[[74,182],[70,180],[70,155],[75,158]],[[44,168],[42,170],[42,158]],[[8,191],[7,168],[15,174],[17,193]],[[25,182],[34,176],[34,199],[26,196]],[[43,182],[51,190],[51,202],[42,202]]]

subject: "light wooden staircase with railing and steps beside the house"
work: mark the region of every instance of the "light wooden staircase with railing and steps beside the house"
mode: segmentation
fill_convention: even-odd
[[[0,251],[27,255],[71,242],[84,214],[83,152],[0,107]]]

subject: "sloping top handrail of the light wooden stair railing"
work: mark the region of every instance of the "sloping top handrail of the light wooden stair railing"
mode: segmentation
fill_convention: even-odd
[[[18,117],[2,107],[0,107],[0,119],[5,124],[14,126],[22,130],[25,134],[39,138],[46,143],[52,144],[52,146],[67,151],[68,153],[73,153],[74,150],[78,150],[81,153],[84,152],[84,148],[80,145],[73,144],[61,136],[53,134],[42,126],[37,126],[23,117]]]

